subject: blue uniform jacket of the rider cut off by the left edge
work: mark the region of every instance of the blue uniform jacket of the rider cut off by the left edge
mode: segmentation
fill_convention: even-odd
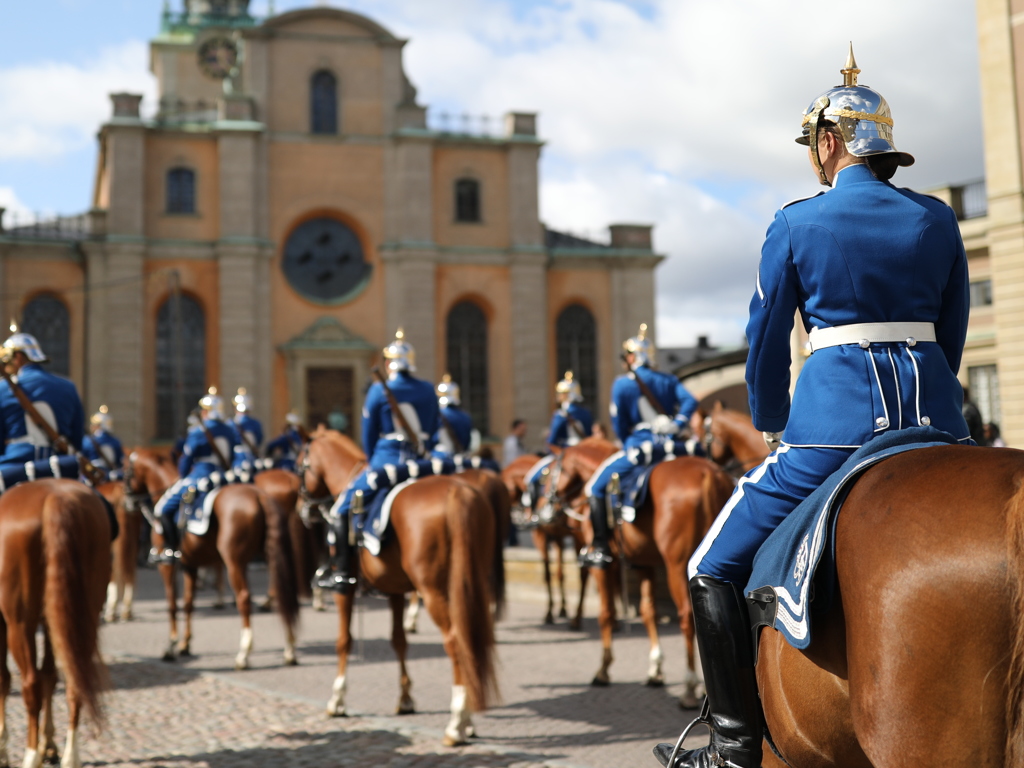
[[[62,376],[44,371],[35,362],[22,368],[17,383],[40,416],[67,437],[76,450],[81,451],[85,413],[75,385]],[[0,381],[0,431],[4,445],[0,463],[24,463],[53,455],[49,439],[25,413],[6,381]]]

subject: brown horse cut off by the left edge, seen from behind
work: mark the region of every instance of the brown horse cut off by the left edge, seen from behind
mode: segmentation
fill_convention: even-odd
[[[105,667],[99,655],[99,614],[110,579],[111,524],[102,502],[74,480],[27,482],[0,496],[0,764],[8,765],[7,652],[22,674],[28,710],[23,766],[55,761],[55,664],[68,695],[68,740],[62,766],[81,766],[78,728],[85,710],[102,724],[99,692]],[[43,630],[42,666],[36,631]],[[40,733],[40,711],[43,733]]]

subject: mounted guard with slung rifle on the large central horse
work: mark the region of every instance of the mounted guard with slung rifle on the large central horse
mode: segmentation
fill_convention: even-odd
[[[334,555],[314,577],[315,586],[322,589],[346,592],[356,584],[355,537],[350,513],[361,513],[364,505],[369,507],[378,492],[421,472],[442,473],[438,470],[443,469],[443,461],[436,459],[435,467],[428,458],[440,428],[437,395],[429,382],[413,375],[416,350],[406,341],[400,328],[394,341],[384,347],[383,354],[387,378],[376,374],[378,381],[367,392],[362,408],[362,447],[370,460],[331,509],[328,541],[334,547]],[[451,463],[446,469],[451,471]],[[356,498],[358,502],[353,509]]]

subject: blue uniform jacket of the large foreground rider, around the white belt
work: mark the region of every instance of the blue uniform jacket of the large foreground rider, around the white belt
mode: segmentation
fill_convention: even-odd
[[[790,402],[790,333],[853,323],[933,323],[936,341],[826,347]],[[746,326],[754,425],[791,445],[859,446],[931,423],[969,437],[956,380],[970,309],[967,257],[944,203],[879,181],[863,165],[775,214]],[[922,421],[922,420],[925,421]]]

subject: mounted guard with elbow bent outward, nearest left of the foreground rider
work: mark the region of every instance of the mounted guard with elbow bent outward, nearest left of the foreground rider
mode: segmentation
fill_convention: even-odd
[[[623,450],[598,467],[585,488],[590,502],[594,540],[581,555],[581,565],[604,568],[611,562],[608,553],[608,483],[618,475],[623,487],[638,470],[666,458],[692,454],[690,417],[697,401],[672,374],[653,369],[654,346],[647,338],[647,325],[623,342],[623,359],[628,373],[611,387],[611,428]]]

